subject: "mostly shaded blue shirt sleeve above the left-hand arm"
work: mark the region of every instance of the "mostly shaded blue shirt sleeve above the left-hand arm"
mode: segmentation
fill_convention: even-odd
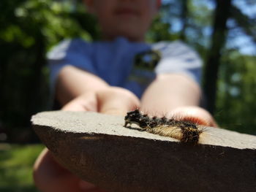
[[[94,73],[90,51],[89,43],[84,42],[82,39],[67,39],[53,47],[53,50],[47,55],[50,68],[50,89],[52,92],[54,92],[59,72],[64,66],[72,65]]]

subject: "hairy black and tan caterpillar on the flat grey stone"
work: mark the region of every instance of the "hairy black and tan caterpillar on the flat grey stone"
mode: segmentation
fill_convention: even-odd
[[[180,142],[197,144],[204,127],[189,120],[176,120],[174,118],[150,118],[139,110],[127,112],[124,117],[124,127],[130,128],[132,124],[140,127],[141,131],[173,137]],[[128,126],[129,125],[129,126]]]

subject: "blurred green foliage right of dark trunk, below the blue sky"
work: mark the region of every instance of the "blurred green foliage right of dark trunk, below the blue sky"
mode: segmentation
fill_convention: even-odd
[[[222,58],[216,118],[224,128],[256,134],[256,57],[230,50]]]

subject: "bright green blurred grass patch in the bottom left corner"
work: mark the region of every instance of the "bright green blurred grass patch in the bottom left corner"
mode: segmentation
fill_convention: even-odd
[[[32,178],[42,145],[0,144],[0,191],[37,191]]]

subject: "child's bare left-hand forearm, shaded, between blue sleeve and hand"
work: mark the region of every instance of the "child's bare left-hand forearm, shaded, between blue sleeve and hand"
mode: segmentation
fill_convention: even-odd
[[[107,82],[74,66],[64,66],[56,83],[56,98],[61,105],[89,91],[108,88]]]

